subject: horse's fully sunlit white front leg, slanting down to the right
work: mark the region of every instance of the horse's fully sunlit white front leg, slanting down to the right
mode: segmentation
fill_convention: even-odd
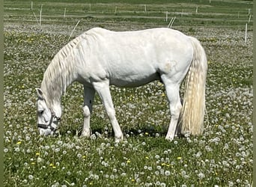
[[[118,120],[115,117],[115,108],[112,102],[112,97],[109,91],[109,81],[95,82],[94,88],[100,96],[104,107],[106,108],[106,113],[108,114],[109,120],[112,123],[113,130],[115,132],[115,141],[121,141],[124,138],[123,132],[118,124]]]

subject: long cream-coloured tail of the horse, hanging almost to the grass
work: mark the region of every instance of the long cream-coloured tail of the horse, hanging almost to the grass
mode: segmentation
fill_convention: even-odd
[[[207,77],[207,56],[201,43],[190,37],[193,59],[186,76],[183,108],[181,113],[181,133],[201,135],[204,130],[205,82]]]

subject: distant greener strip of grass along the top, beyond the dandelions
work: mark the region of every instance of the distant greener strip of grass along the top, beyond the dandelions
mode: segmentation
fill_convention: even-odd
[[[61,22],[76,24],[80,19],[85,22],[135,22],[161,26],[168,25],[176,17],[175,25],[245,25],[249,20],[252,1],[147,1],[144,11],[142,1],[35,1],[31,10],[31,1],[4,1],[4,18],[9,22],[34,22],[39,20],[42,10],[42,24]],[[198,13],[196,8],[198,7]],[[117,8],[117,9],[116,9]],[[66,9],[66,19],[64,10]],[[168,11],[168,21],[165,13]],[[251,11],[252,12],[252,11]],[[76,19],[76,20],[74,20]],[[251,20],[253,19],[253,16]],[[74,23],[75,22],[75,23]],[[252,21],[249,22],[252,25]]]

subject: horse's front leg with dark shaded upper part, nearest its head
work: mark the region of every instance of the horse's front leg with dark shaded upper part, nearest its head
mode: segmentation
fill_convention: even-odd
[[[84,126],[82,129],[81,136],[85,136],[87,138],[91,135],[90,129],[90,116],[92,112],[92,106],[94,102],[95,90],[94,88],[86,87],[84,85],[84,107],[82,108],[84,114]]]

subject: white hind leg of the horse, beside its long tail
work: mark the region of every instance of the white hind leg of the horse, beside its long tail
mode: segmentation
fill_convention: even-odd
[[[171,111],[171,123],[168,128],[165,139],[172,141],[174,139],[175,131],[177,129],[177,122],[179,120],[182,105],[180,103],[180,85],[171,83],[168,79],[162,78],[165,84],[165,91],[168,97],[169,108]]]

